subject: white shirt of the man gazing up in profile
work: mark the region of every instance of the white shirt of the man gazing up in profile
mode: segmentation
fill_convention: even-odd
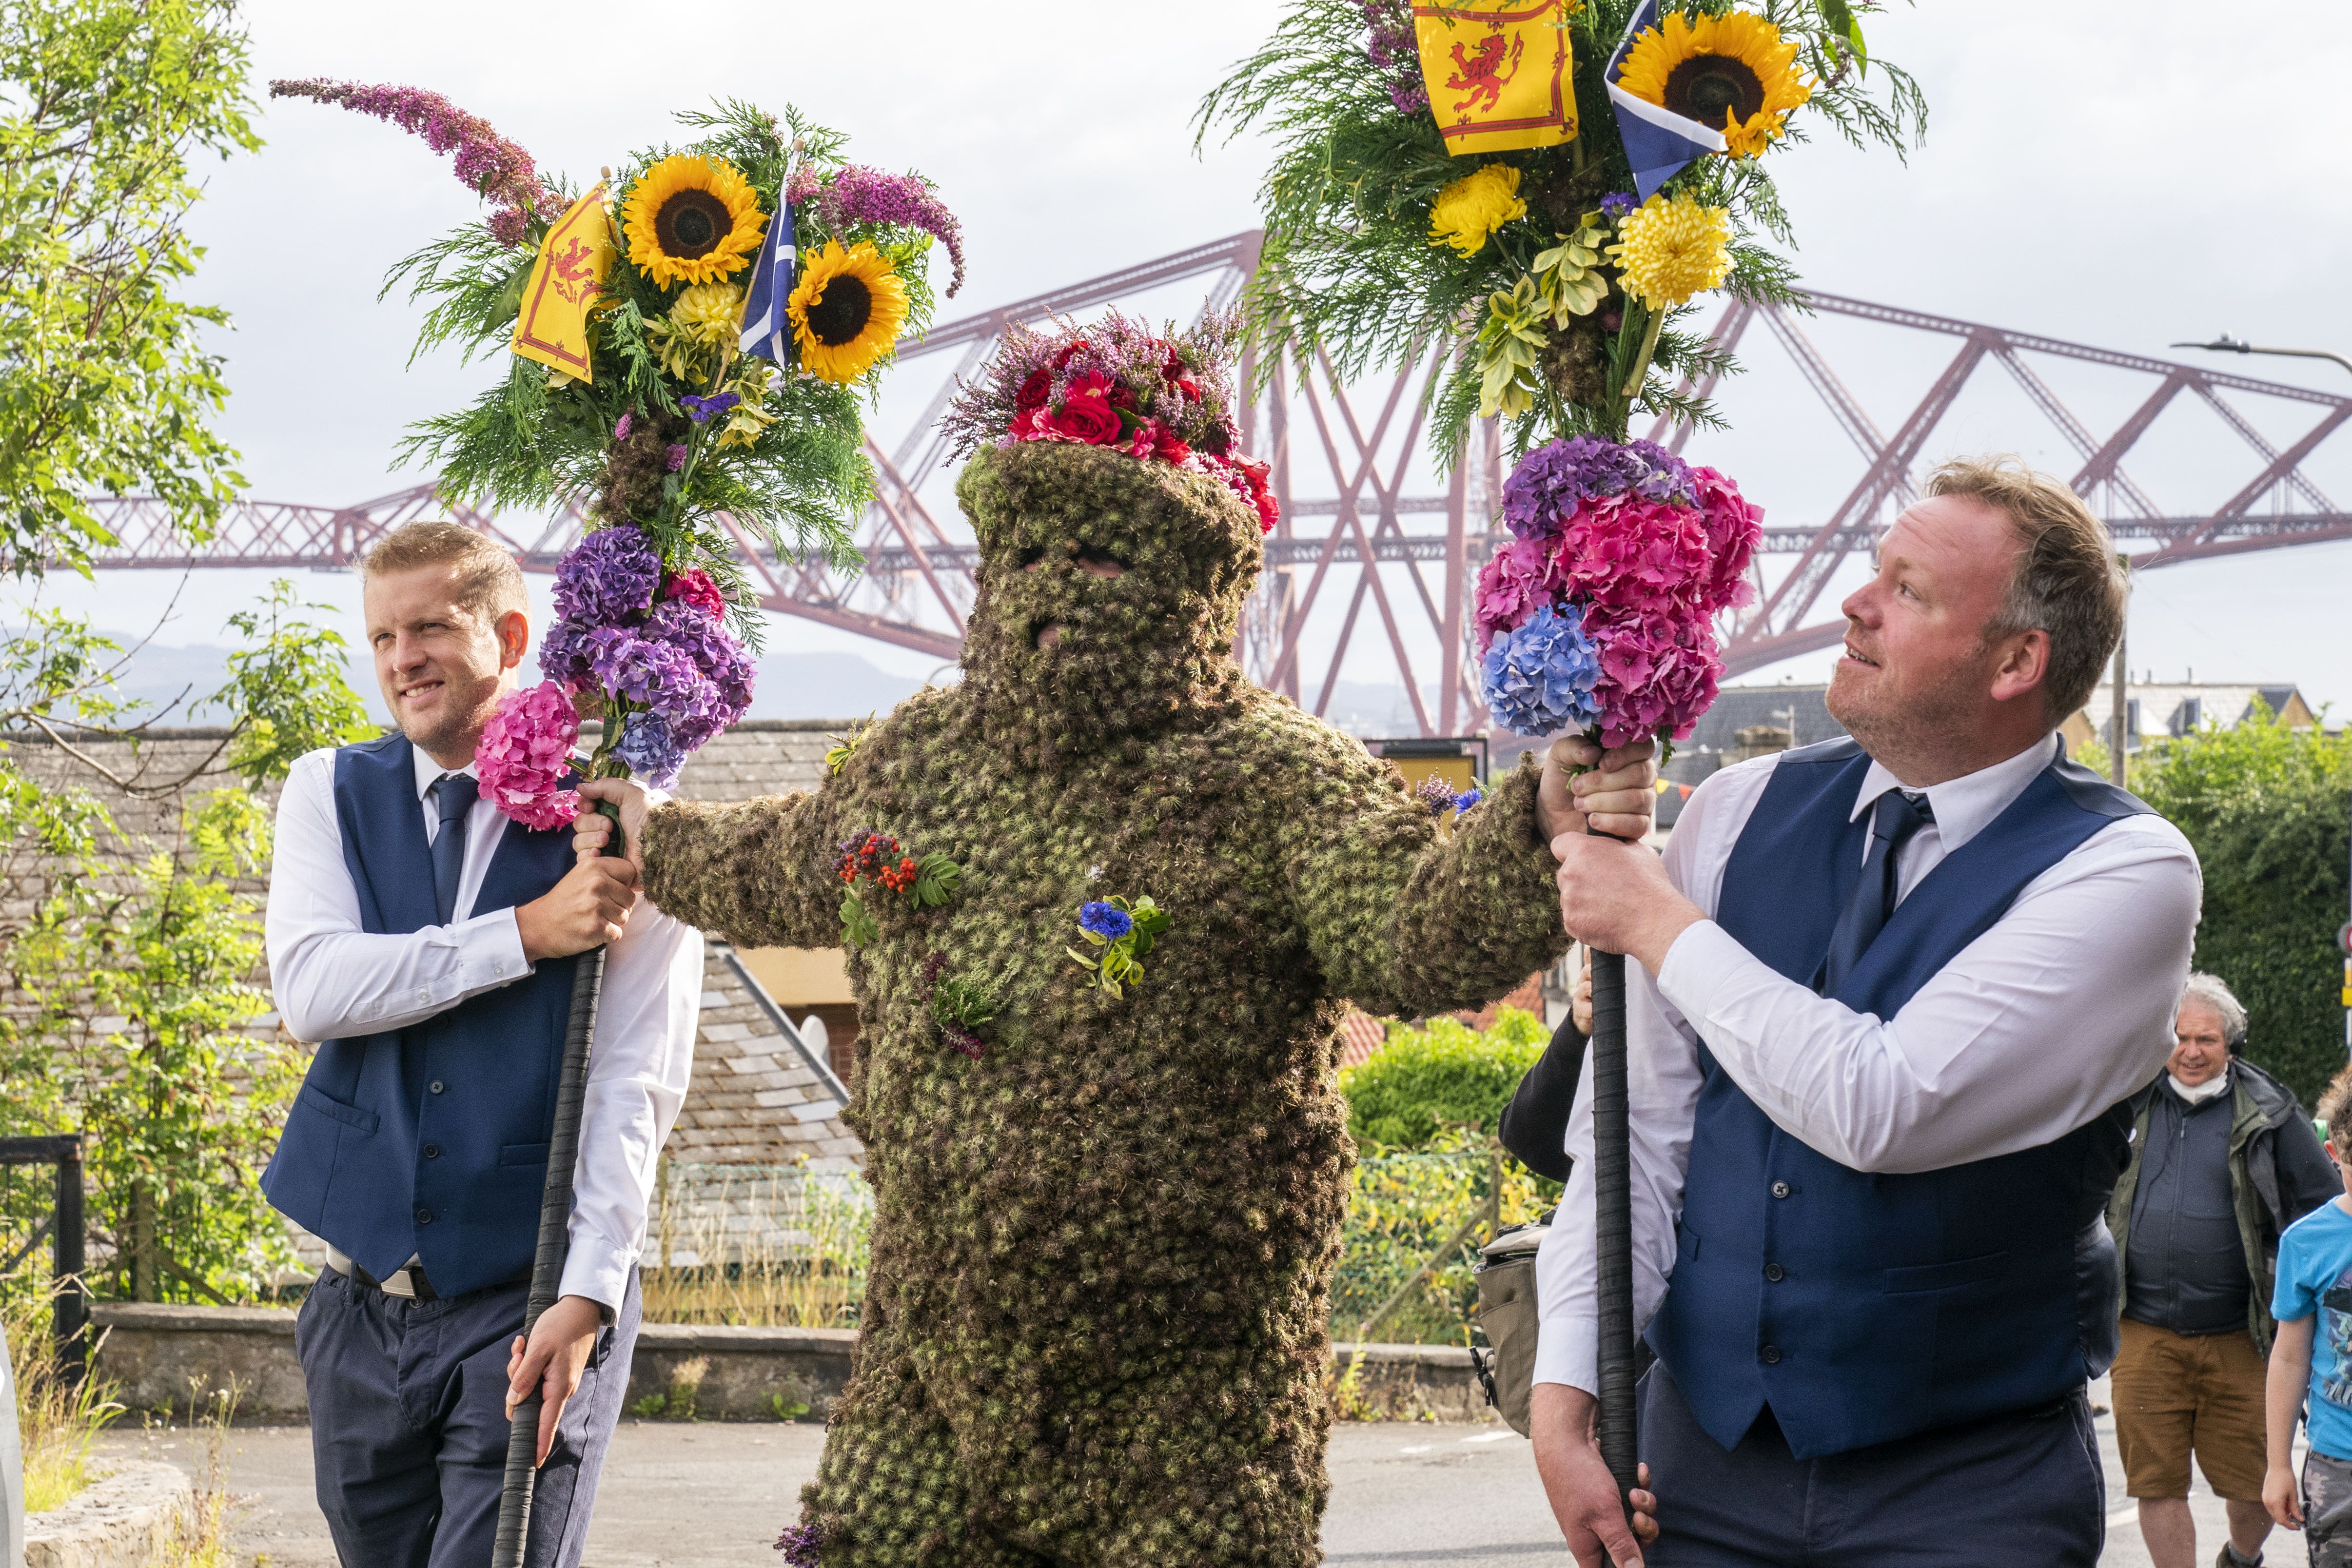
[[[1896,898],[2006,811],[2056,745],[2046,738],[1929,785],[1936,820],[1896,858]],[[1675,823],[1665,872],[1705,914],[1778,762],[1757,757],[1708,778]],[[1893,773],[1872,762],[1853,818],[1893,788]],[[1990,931],[1886,1020],[1766,969],[1712,919],[1675,938],[1656,980],[1628,964],[1635,1321],[1646,1326],[1658,1312],[1675,1267],[1698,1039],[1773,1126],[1853,1171],[1940,1171],[2030,1150],[2164,1067],[2199,898],[2187,839],[2145,813],[2107,823],[2027,882]],[[1576,1086],[1566,1150],[1576,1168],[1536,1255],[1536,1382],[1597,1392],[1590,1072]]]

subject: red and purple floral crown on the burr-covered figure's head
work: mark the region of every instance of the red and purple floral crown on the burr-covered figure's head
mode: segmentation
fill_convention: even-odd
[[[1110,447],[1207,475],[1249,503],[1258,531],[1279,517],[1265,463],[1240,451],[1228,371],[1235,317],[1211,310],[1190,331],[1152,331],[1112,310],[1091,327],[1011,327],[995,360],[948,411],[955,454],[1016,442]]]

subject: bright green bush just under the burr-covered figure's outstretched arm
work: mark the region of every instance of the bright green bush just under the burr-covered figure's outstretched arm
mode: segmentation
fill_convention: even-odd
[[[1496,1011],[1484,1034],[1454,1018],[1388,1025],[1388,1044],[1338,1074],[1348,1133],[1359,1145],[1421,1150],[1446,1126],[1494,1133],[1510,1093],[1552,1032],[1515,1006]]]

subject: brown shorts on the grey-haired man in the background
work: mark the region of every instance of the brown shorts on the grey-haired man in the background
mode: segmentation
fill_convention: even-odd
[[[2107,1375],[2124,1495],[2187,1497],[2190,1450],[2206,1486],[2230,1502],[2263,1500],[2263,1356],[2253,1335],[2180,1335],[2124,1319]]]

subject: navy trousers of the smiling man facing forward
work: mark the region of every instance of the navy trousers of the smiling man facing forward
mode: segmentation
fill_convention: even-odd
[[[489,1568],[506,1479],[506,1354],[527,1286],[405,1300],[325,1269],[294,1349],[318,1507],[343,1568]],[[637,1347],[637,1276],[597,1335],[532,1488],[527,1568],[576,1568]]]

